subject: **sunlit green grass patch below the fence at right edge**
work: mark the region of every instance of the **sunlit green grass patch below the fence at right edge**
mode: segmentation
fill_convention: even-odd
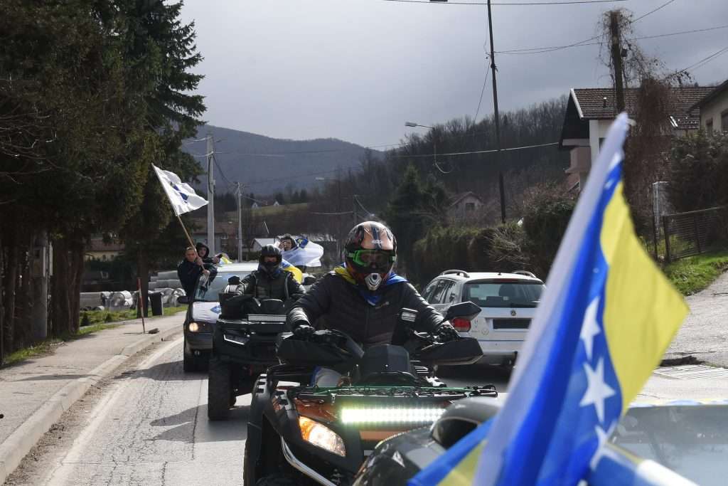
[[[670,263],[665,266],[665,275],[683,295],[692,295],[708,287],[726,270],[728,250],[721,250]]]

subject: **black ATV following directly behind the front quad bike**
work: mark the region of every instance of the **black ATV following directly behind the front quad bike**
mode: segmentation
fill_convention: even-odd
[[[256,378],[278,364],[275,344],[285,331],[285,313],[294,302],[220,294],[207,380],[207,418],[224,420],[237,396],[250,393]]]

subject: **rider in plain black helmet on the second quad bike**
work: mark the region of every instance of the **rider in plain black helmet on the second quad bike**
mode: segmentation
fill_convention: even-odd
[[[304,288],[293,277],[293,273],[281,268],[282,251],[273,245],[261,248],[258,270],[248,274],[240,281],[242,294],[250,294],[257,299],[281,299],[304,293]]]

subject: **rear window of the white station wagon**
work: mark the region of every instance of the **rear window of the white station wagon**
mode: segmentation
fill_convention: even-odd
[[[479,307],[536,307],[543,283],[529,281],[473,281],[465,284],[463,302]]]

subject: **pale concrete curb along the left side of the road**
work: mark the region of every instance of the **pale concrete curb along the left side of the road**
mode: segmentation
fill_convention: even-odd
[[[139,351],[148,348],[155,342],[170,340],[173,335],[181,331],[181,326],[174,326],[159,334],[146,334],[140,340],[124,347],[119,354],[111,356],[92,369],[87,376],[77,378],[55,392],[45,404],[0,444],[0,485],[5,482],[12,471],[15,471],[43,434],[58,422],[63,412],[66,412],[84,396],[92,385],[111,375],[114,369]]]

